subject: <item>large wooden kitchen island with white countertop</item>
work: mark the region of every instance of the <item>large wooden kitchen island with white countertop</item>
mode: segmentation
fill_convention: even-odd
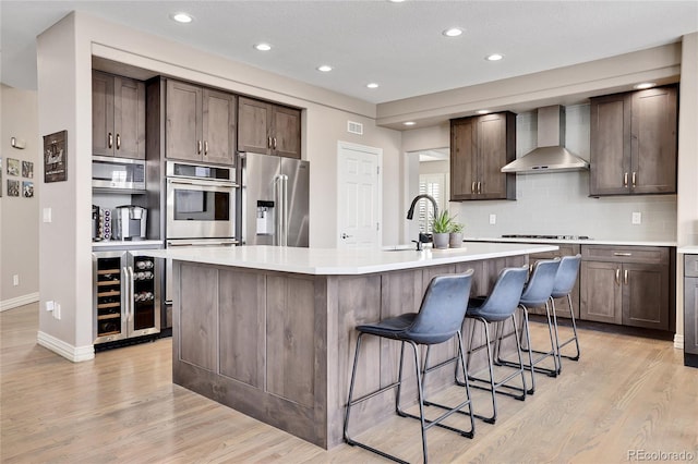
[[[471,294],[484,294],[500,269],[554,249],[465,243],[422,252],[241,246],[148,253],[173,260],[172,381],[330,449],[342,441],[357,325],[417,312],[433,276],[472,268]],[[364,347],[358,395],[390,382],[398,368],[398,343],[373,339]],[[454,353],[445,343],[431,362]],[[429,382],[453,384],[453,370],[435,371]],[[414,398],[414,384],[404,394]],[[393,405],[393,393],[363,403],[352,430],[392,415]]]

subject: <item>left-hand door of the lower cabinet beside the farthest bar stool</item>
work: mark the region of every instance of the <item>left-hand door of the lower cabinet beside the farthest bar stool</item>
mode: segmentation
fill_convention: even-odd
[[[581,319],[622,323],[621,270],[616,262],[581,261]]]

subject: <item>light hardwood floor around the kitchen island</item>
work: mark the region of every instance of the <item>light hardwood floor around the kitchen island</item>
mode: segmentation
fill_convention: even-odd
[[[171,339],[73,364],[36,344],[37,314],[37,304],[0,313],[2,463],[384,462],[348,445],[322,450],[172,384]],[[580,338],[578,363],[557,379],[538,376],[526,402],[502,398],[496,425],[476,422],[474,439],[430,430],[431,461],[619,463],[634,451],[698,461],[698,369],[683,366],[681,351],[591,330]],[[476,401],[488,407],[481,393]],[[365,438],[421,461],[414,420],[389,419]]]

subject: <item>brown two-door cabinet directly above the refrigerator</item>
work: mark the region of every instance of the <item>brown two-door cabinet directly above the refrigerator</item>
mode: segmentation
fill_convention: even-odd
[[[238,150],[301,158],[301,111],[240,97]]]

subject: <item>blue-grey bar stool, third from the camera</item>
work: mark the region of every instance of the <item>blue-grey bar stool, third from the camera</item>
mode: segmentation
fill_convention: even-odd
[[[519,300],[518,307],[524,312],[524,331],[526,332],[526,346],[524,346],[524,337],[522,333],[518,334],[516,327],[513,332],[504,333],[500,335],[497,345],[502,344],[502,341],[508,337],[516,335],[518,345],[521,350],[528,351],[528,361],[529,364],[525,364],[524,367],[531,371],[531,388],[528,390],[528,394],[533,394],[535,392],[535,376],[534,373],[543,373],[549,375],[550,377],[557,376],[557,370],[559,368],[557,364],[557,355],[555,351],[555,340],[553,333],[553,320],[551,318],[550,312],[550,297],[553,293],[553,285],[555,284],[555,274],[557,273],[557,268],[559,267],[559,258],[555,259],[543,259],[537,261],[533,265],[533,270],[531,271],[531,276],[529,277],[528,282],[526,283],[526,288],[524,289],[524,293],[521,294],[521,298]],[[545,307],[545,315],[547,317],[547,331],[550,334],[550,350],[549,351],[539,351],[533,350],[531,347],[531,333],[529,329],[528,322],[528,308],[535,307]],[[500,353],[500,351],[497,351]],[[533,358],[533,353],[539,354],[537,358]],[[553,358],[553,368],[544,368],[537,366],[542,361],[547,357]],[[515,363],[510,361],[502,359],[497,356],[497,362],[504,365],[516,366]]]

